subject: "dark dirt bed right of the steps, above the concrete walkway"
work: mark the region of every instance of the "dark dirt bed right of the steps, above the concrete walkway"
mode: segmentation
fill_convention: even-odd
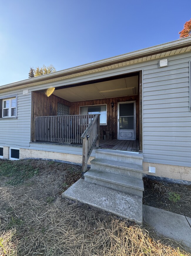
[[[191,218],[191,185],[172,184],[144,177],[143,204]]]

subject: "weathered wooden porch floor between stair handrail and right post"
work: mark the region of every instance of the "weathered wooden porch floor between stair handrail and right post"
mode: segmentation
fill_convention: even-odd
[[[139,141],[128,140],[100,140],[100,149],[114,149],[121,151],[139,152]]]

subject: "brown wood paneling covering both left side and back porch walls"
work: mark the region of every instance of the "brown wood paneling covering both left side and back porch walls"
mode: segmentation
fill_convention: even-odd
[[[117,139],[117,118],[118,118],[118,102],[136,100],[136,139],[139,139],[139,96],[125,96],[101,100],[87,100],[79,102],[69,102],[55,95],[47,97],[42,91],[32,92],[32,107],[31,107],[31,141],[35,140],[35,117],[36,116],[53,116],[57,115],[58,102],[70,107],[70,115],[79,115],[80,106],[101,105],[107,104],[107,125],[100,125],[101,131],[112,131],[113,138]],[[111,102],[114,102],[114,107],[111,107]]]

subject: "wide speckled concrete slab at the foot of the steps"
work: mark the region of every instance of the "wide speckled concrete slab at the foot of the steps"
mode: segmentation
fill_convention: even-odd
[[[143,223],[142,198],[136,195],[128,195],[80,179],[62,193],[62,197],[87,203],[138,225]]]

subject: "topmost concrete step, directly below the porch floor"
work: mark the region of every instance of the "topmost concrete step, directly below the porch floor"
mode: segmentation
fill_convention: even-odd
[[[130,153],[126,151],[96,149],[96,158],[128,162],[129,164],[143,164],[143,154]]]

